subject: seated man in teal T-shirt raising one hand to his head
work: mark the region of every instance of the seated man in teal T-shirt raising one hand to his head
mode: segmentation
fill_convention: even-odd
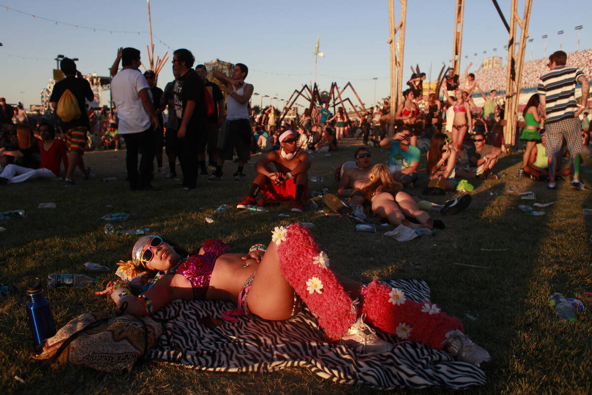
[[[411,136],[411,130],[403,126],[391,138],[382,139],[380,146],[390,148],[388,169],[391,171],[392,178],[404,187],[411,184],[413,188],[413,183],[417,181],[417,168],[419,168],[422,152],[411,145]]]

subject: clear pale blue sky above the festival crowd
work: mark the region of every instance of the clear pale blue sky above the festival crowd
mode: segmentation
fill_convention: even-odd
[[[159,75],[161,88],[173,79],[172,50],[185,47],[200,63],[218,58],[246,64],[249,67],[246,81],[255,86],[255,92],[288,99],[295,89],[313,80],[313,53],[318,34],[320,51],[325,55],[318,57],[317,65],[317,84],[321,90],[328,91],[333,81],[340,87],[350,81],[366,106],[374,101],[374,95],[378,101],[390,94],[388,1],[203,3],[150,2],[155,54],[162,56],[169,51],[169,63]],[[498,3],[510,23],[510,0],[498,0]],[[521,18],[524,3],[519,1]],[[435,79],[442,62],[449,64],[454,11],[454,0],[408,1],[404,81],[411,74],[411,65],[419,64],[428,77],[431,68]],[[543,34],[549,36],[546,56],[559,49],[560,40],[565,52],[574,52],[578,37],[574,30],[576,25],[584,25],[580,50],[590,48],[592,23],[588,21],[591,16],[592,1],[533,1],[529,25],[530,37],[534,38],[532,59],[543,57]],[[400,2],[395,0],[395,23],[399,19]],[[559,30],[565,33],[558,36]],[[117,31],[127,31],[127,34]],[[140,49],[142,60],[147,63],[146,45],[150,43],[147,32],[146,1],[0,0],[0,43],[3,44],[0,47],[0,97],[7,98],[9,103],[22,101],[26,108],[30,104],[40,104],[40,89],[45,88],[52,77],[52,69],[56,67],[53,59],[57,54],[78,57],[76,63],[83,74],[96,72],[101,76],[108,75],[108,68],[121,46]],[[478,54],[478,65],[484,57],[496,54],[494,48],[497,48],[497,56],[505,59],[503,46],[508,33],[493,2],[467,0],[463,32],[463,70],[469,61],[475,63],[474,53]],[[465,55],[469,59],[465,59]],[[530,43],[525,59],[529,57]],[[378,79],[373,81],[374,77]],[[356,104],[351,91],[346,91],[345,95]],[[252,102],[260,104],[260,101],[259,96]],[[269,99],[265,98],[263,105],[268,104]]]

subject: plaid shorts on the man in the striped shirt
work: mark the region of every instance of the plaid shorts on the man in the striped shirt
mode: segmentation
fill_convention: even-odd
[[[546,123],[545,156],[547,158],[559,156],[564,137],[567,142],[567,149],[572,156],[584,152],[581,129],[582,126],[578,118],[567,118],[553,123]]]

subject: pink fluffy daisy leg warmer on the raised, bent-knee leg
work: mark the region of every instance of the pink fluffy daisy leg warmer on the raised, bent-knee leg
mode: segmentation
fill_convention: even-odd
[[[277,242],[276,242],[277,243]],[[298,296],[318,317],[333,340],[342,338],[356,320],[352,299],[329,269],[329,258],[308,229],[294,223],[278,244],[279,267]]]

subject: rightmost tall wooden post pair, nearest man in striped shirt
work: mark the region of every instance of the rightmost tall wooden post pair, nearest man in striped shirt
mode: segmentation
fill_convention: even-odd
[[[511,152],[516,143],[518,99],[520,96],[520,88],[522,87],[520,85],[522,82],[522,65],[524,63],[524,54],[526,51],[526,40],[529,37],[528,24],[530,22],[532,0],[526,0],[522,20],[520,20],[517,13],[518,0],[512,0],[511,7],[506,93],[516,92],[516,94],[506,98],[506,111],[504,112],[504,120],[506,121],[506,125],[504,126],[504,148],[506,152]],[[514,46],[514,43],[516,42],[516,24],[520,26],[520,44],[518,46],[517,54]]]

